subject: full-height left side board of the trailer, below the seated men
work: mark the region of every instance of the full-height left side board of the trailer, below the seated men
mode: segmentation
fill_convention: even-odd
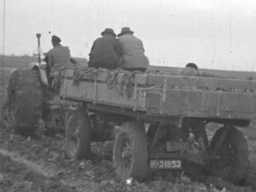
[[[67,70],[66,76],[62,77],[60,95],[64,98],[145,111],[145,92],[136,92],[133,89],[130,97],[125,94],[122,95],[119,86],[116,85],[111,89],[108,87],[105,82],[105,73],[99,73],[97,77],[96,75],[84,76],[75,85],[73,84],[72,75],[73,71]],[[120,78],[119,75],[118,79]]]

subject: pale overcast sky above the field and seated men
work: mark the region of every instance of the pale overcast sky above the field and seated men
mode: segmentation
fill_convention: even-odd
[[[4,0],[0,0],[3,53]],[[72,56],[88,58],[105,28],[130,27],[151,65],[256,71],[255,0],[6,0],[5,54],[51,49],[51,36]]]

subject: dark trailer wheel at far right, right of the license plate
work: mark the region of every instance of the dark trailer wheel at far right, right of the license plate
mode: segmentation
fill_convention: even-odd
[[[232,126],[221,127],[211,140],[209,152],[221,156],[221,159],[209,161],[211,175],[236,184],[244,181],[249,160],[248,145],[242,132]]]

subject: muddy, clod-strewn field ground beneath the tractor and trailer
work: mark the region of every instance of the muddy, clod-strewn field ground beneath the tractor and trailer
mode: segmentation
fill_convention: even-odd
[[[250,160],[254,162],[256,139],[253,140],[252,132],[254,129],[244,131],[248,143],[252,144]],[[143,183],[127,184],[115,175],[112,142],[94,142],[92,151],[91,160],[70,160],[63,135],[30,138],[2,128],[0,191],[254,191],[251,185],[247,186],[252,181],[245,183],[246,186],[234,186],[203,175],[200,167],[190,163],[185,166],[185,172],[148,169]],[[255,167],[250,170],[253,180]]]

